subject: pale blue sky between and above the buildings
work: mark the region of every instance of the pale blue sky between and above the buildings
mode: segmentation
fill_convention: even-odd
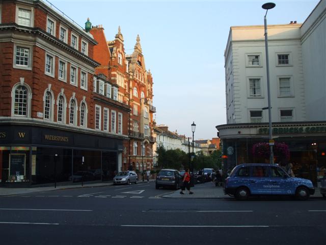
[[[44,0],[45,1],[45,0]],[[325,0],[322,0],[325,1]],[[126,54],[141,39],[153,76],[156,124],[195,140],[216,137],[226,124],[224,51],[231,26],[263,25],[268,1],[259,0],[49,0],[85,27],[103,25],[106,40],[118,27]],[[267,24],[303,23],[319,0],[274,1]]]

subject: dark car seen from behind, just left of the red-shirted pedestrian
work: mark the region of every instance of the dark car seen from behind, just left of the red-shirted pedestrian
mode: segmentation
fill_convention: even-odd
[[[173,187],[174,189],[179,189],[182,177],[178,170],[176,169],[161,169],[157,176],[155,182],[155,188],[159,187]]]

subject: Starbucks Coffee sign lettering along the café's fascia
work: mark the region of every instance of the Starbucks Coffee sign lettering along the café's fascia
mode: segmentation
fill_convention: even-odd
[[[258,134],[268,134],[268,128],[259,128]],[[326,133],[326,126],[313,127],[273,127],[273,134],[315,134]]]

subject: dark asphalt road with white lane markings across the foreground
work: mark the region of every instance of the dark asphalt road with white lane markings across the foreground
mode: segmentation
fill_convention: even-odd
[[[323,244],[326,238],[322,199],[161,198],[171,191],[141,182],[0,197],[0,240],[179,245]]]

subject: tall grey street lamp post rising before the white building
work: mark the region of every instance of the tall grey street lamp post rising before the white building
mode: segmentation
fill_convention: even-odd
[[[274,153],[273,153],[273,136],[271,134],[271,105],[270,105],[270,88],[269,88],[269,62],[268,62],[268,40],[267,40],[267,20],[266,15],[268,9],[273,9],[275,7],[274,3],[266,3],[261,6],[266,9],[266,14],[264,16],[264,27],[265,27],[265,52],[266,52],[266,75],[267,75],[267,100],[268,100],[268,130],[269,130],[269,163],[274,164]]]

